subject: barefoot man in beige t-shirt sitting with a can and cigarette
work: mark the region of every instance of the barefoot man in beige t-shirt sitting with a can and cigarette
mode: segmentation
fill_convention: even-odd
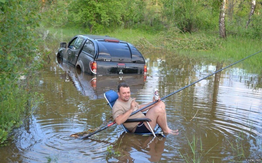
[[[178,134],[178,130],[171,130],[167,126],[166,121],[166,105],[163,101],[158,100],[157,103],[141,110],[141,112],[137,112],[136,114],[130,116],[132,112],[135,112],[148,104],[139,105],[134,99],[130,97],[130,87],[126,83],[121,83],[118,85],[118,99],[116,100],[113,106],[113,119],[115,122],[120,125],[123,125],[130,131],[135,133],[145,133],[150,132],[150,129],[146,122],[132,122],[132,123],[124,123],[129,118],[149,118],[151,122],[149,122],[150,126],[154,129],[158,124],[161,127],[162,131],[165,133]],[[159,98],[160,99],[160,98]],[[153,102],[156,101],[153,97]],[[147,111],[146,115],[142,112]]]

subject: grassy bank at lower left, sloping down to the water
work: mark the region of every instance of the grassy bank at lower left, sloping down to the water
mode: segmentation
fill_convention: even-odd
[[[0,146],[7,145],[13,128],[21,125],[42,100],[34,87],[39,81],[35,75],[21,76],[14,87],[4,90],[11,93],[0,101]]]

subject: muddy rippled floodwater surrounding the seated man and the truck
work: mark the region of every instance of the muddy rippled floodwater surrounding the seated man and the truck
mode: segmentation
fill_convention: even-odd
[[[14,141],[0,148],[1,163],[228,163],[261,159],[262,76],[239,68],[240,64],[164,100],[168,125],[178,129],[178,135],[138,136],[123,133],[115,124],[85,140],[69,137],[101,127],[110,118],[103,93],[116,91],[121,82],[130,84],[132,97],[142,104],[152,100],[154,88],[163,97],[227,66],[163,53],[143,51],[146,77],[88,76],[54,54],[37,86],[44,103],[14,131]]]

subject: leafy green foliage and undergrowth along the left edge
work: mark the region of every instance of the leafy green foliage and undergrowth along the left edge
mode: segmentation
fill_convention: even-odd
[[[0,1],[0,145],[33,93],[19,83],[26,83],[22,77],[40,66],[38,5],[34,0]]]

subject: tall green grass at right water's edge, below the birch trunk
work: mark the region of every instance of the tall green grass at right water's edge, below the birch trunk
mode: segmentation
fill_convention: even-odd
[[[213,60],[230,65],[262,50],[262,41],[258,39],[229,36],[220,48],[209,51],[180,51],[180,54],[192,56],[201,60]],[[236,67],[247,69],[247,72],[262,74],[262,52],[240,62]]]

